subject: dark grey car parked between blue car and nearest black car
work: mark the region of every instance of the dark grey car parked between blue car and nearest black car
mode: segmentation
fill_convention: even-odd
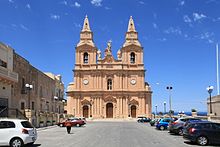
[[[169,132],[174,134],[183,135],[183,128],[187,121],[189,120],[201,120],[194,117],[181,117],[174,122],[169,124]]]

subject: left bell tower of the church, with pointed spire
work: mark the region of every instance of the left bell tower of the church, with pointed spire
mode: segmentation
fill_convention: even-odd
[[[89,65],[90,67],[90,65],[96,64],[96,52],[97,49],[93,42],[93,33],[90,29],[88,16],[86,15],[80,32],[80,41],[76,46],[76,67],[79,68],[81,65]]]

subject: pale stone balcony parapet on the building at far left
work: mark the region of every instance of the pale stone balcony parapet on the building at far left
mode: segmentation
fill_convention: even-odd
[[[3,78],[6,78],[8,80],[11,80],[13,82],[18,82],[18,74],[8,70],[7,68],[0,66],[0,76]]]

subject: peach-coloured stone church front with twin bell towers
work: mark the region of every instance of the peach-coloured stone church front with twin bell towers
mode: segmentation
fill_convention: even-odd
[[[150,117],[152,91],[145,82],[143,56],[132,17],[115,59],[111,41],[102,57],[86,16],[75,48],[74,81],[67,87],[67,113],[94,119]]]

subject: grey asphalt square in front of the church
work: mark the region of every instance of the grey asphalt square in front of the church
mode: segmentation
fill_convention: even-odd
[[[168,131],[136,122],[88,122],[84,127],[38,130],[35,147],[197,147]]]

